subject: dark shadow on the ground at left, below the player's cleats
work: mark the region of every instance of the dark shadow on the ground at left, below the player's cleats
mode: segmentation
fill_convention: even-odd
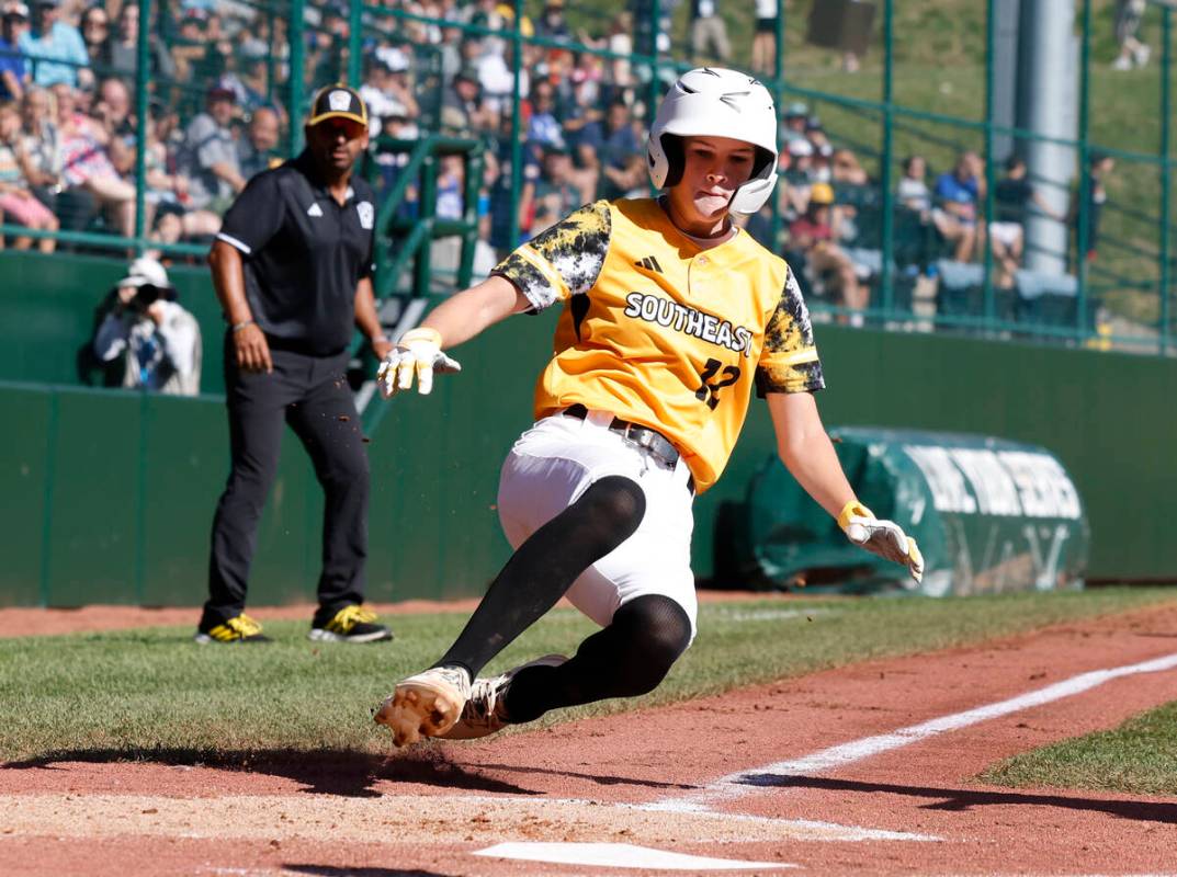
[[[354,750],[306,752],[292,749],[252,751],[199,749],[78,749],[47,752],[35,758],[0,764],[0,770],[56,770],[66,762],[91,764],[165,764],[168,766],[214,768],[246,774],[285,777],[305,785],[311,795],[380,797],[372,786],[380,781],[418,783],[441,789],[477,792],[533,795],[512,783],[504,783],[461,768],[440,749],[410,750],[400,755],[372,755]],[[394,873],[394,872],[390,872]]]

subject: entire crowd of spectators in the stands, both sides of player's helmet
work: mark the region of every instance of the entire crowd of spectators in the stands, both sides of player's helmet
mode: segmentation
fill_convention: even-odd
[[[439,162],[439,217],[459,219],[472,207],[481,237],[501,254],[581,203],[649,193],[644,130],[652,89],[630,56],[631,9],[594,19],[588,32],[570,26],[564,0],[546,0],[534,20],[520,22],[524,35],[540,41],[524,41],[516,58],[512,4],[384,0],[377,6],[412,16],[366,13],[360,93],[373,138],[404,141],[440,132],[484,145],[476,186],[467,185],[458,156]],[[132,236],[142,146],[146,233],[161,243],[205,241],[248,179],[282,155],[290,132],[281,101],[290,58],[286,18],[238,0],[152,8],[152,100],[140,138],[131,91],[140,27],[135,2],[0,0],[0,209],[7,223]],[[632,9],[640,14],[640,0]],[[717,1],[692,0],[690,12],[684,54],[727,58]],[[757,4],[756,14],[756,61],[767,66],[777,5]],[[307,24],[310,93],[346,75],[346,5],[311,2]],[[511,112],[516,87],[518,118]],[[852,149],[831,142],[804,103],[789,105],[783,122],[776,215],[766,206],[749,217],[747,230],[787,256],[812,294],[860,312],[871,303],[879,265],[877,255],[864,256],[878,248],[872,235],[882,205],[878,181]],[[513,174],[517,146],[523,161]],[[391,188],[406,159],[377,155],[378,192]],[[982,159],[971,152],[937,175],[912,155],[896,174],[895,198],[906,225],[926,232],[943,257],[973,262],[992,246],[998,284],[1008,286],[1024,253],[1026,210],[1065,217],[1026,182],[1024,163],[1011,160],[995,190],[997,214],[986,221],[984,176]],[[467,206],[471,192],[478,192],[478,202]],[[412,220],[420,209],[412,203],[417,187],[408,198],[404,215]],[[54,246],[35,234],[9,242]]]

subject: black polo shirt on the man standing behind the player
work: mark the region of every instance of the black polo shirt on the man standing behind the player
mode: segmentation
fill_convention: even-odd
[[[217,237],[245,256],[246,297],[271,344],[327,356],[352,340],[374,228],[371,187],[352,176],[340,207],[304,152],[254,176]]]

